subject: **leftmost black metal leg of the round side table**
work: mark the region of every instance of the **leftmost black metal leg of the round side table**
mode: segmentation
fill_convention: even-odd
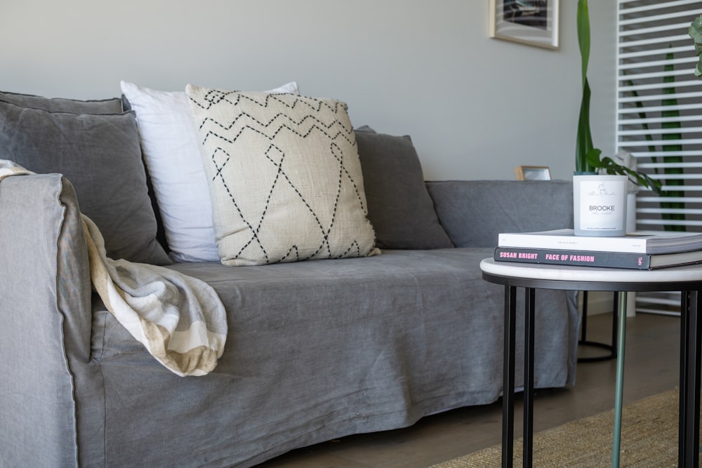
[[[512,468],[515,449],[515,342],[517,288],[505,286],[505,342],[502,386],[502,466]]]

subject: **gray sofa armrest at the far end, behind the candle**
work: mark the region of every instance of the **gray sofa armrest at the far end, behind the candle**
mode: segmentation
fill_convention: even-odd
[[[573,227],[567,180],[447,180],[427,189],[456,247],[495,247],[501,232]]]

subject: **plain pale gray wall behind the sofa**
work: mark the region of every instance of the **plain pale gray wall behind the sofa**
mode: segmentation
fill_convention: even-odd
[[[2,0],[0,90],[119,95],[119,81],[244,90],[298,81],[355,126],[409,134],[428,179],[570,178],[580,102],[576,0],[560,48],[487,35],[488,0]],[[614,149],[616,2],[590,2],[595,145]]]

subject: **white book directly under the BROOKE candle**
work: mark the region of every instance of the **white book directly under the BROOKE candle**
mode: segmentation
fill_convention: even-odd
[[[597,252],[675,253],[702,249],[702,232],[637,231],[621,237],[576,236],[573,229],[498,234],[498,247]]]

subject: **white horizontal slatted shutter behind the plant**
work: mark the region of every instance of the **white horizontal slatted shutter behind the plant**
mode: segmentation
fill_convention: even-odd
[[[700,0],[618,0],[618,150],[661,181],[637,194],[637,229],[702,231],[702,80],[687,34]],[[679,314],[680,293],[637,293],[637,312]]]

